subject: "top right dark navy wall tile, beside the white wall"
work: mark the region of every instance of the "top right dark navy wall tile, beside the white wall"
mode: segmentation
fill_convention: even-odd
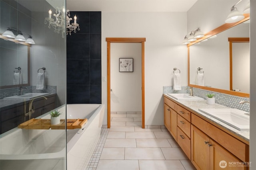
[[[90,12],[90,33],[101,33],[101,12]]]

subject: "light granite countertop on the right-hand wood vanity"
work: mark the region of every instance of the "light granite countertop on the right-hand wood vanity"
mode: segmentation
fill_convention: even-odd
[[[208,121],[213,122],[224,129],[230,131],[231,133],[234,133],[238,137],[244,139],[245,141],[250,141],[250,131],[239,131],[238,129],[235,129],[234,127],[231,127],[230,125],[227,125],[226,123],[223,123],[222,121],[219,121],[218,119],[211,117],[210,115],[207,115],[206,113],[203,113],[202,111],[199,111],[198,109],[224,109],[224,108],[230,108],[224,105],[220,104],[214,104],[214,105],[209,105],[206,104],[206,100],[203,101],[189,101],[189,100],[176,100],[175,98],[172,98],[170,96],[167,96],[164,94],[165,97],[176,101],[176,103],[180,104],[181,106],[188,107],[191,109],[193,112],[197,113],[198,115],[201,115],[202,117],[208,119]]]

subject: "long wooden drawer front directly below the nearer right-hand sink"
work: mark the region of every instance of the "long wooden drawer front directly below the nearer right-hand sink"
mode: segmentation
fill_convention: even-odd
[[[191,122],[193,125],[198,127],[206,135],[211,137],[214,141],[224,147],[226,150],[230,151],[236,157],[244,162],[249,161],[249,146],[239,141],[235,137],[232,137],[228,133],[222,131],[218,127],[208,123],[204,119],[192,114]]]

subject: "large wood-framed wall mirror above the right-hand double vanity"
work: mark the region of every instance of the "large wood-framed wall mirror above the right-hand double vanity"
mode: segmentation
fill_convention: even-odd
[[[225,23],[188,44],[188,86],[249,97],[249,43],[230,42],[233,38],[249,39],[248,20],[249,15],[237,23]],[[200,81],[202,73],[203,82]],[[244,79],[246,77],[248,78]]]

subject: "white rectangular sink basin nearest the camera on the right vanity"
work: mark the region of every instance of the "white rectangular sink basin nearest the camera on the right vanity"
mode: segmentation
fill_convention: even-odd
[[[239,131],[248,131],[250,129],[250,117],[246,111],[238,109],[199,109]]]

